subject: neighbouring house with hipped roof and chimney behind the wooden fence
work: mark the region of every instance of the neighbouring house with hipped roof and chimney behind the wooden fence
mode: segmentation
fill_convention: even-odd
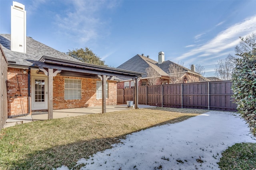
[[[169,68],[175,66],[179,69],[179,72],[173,73],[170,72]],[[180,64],[176,64],[172,61],[165,61],[164,60],[164,52],[158,53],[158,62],[154,61],[149,58],[149,56],[136,55],[126,61],[125,63],[121,64],[117,68],[124,69],[124,70],[133,70],[136,72],[142,72],[144,75],[140,78],[139,86],[147,86],[148,79],[150,78],[146,74],[146,68],[151,67],[159,75],[160,81],[157,82],[159,84],[170,84],[172,81],[172,77],[177,77],[179,82],[186,83],[186,82],[199,82],[199,81],[210,81],[207,78],[204,78],[202,75],[196,73],[194,70],[194,64],[192,65],[192,69],[190,70]],[[122,88],[132,88],[134,86],[134,81],[131,79],[125,79],[118,82],[118,89]]]

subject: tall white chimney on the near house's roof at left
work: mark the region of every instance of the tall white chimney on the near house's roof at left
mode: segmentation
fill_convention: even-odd
[[[11,51],[26,53],[26,11],[25,6],[12,2],[11,6]]]

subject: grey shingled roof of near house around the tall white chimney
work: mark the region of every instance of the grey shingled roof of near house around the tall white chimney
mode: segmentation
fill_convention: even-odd
[[[6,55],[9,65],[14,66],[31,66],[32,63],[27,60],[38,61],[42,56],[50,56],[57,59],[64,59],[68,61],[80,62],[65,53],[57,51],[43,43],[40,43],[31,37],[26,37],[26,54],[11,51],[11,35],[10,34],[0,34],[0,44]]]

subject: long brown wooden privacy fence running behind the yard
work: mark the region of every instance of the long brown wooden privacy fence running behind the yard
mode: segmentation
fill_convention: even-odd
[[[231,97],[232,82],[196,82],[138,87],[138,104],[161,107],[237,111]],[[134,89],[118,89],[117,103],[134,101]]]

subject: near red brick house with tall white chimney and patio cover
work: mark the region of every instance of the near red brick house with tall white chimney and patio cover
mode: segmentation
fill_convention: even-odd
[[[102,106],[105,113],[106,105],[116,105],[116,77],[137,80],[142,76],[138,72],[82,63],[26,37],[24,5],[13,2],[11,10],[11,35],[0,34],[1,51],[8,61],[8,117],[48,110],[48,119],[52,119],[53,109],[88,106]]]

